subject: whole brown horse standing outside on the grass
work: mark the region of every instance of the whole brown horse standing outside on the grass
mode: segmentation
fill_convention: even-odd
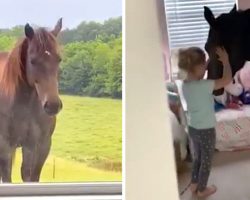
[[[0,178],[11,182],[12,157],[22,148],[23,181],[39,181],[50,151],[56,114],[62,108],[58,95],[61,61],[52,31],[25,26],[25,37],[9,53],[0,53]]]

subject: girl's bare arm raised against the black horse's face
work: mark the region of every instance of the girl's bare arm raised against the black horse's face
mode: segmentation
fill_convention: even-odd
[[[224,48],[217,48],[216,53],[223,64],[223,76],[214,81],[214,90],[221,89],[232,81],[232,70],[228,59],[228,54]]]

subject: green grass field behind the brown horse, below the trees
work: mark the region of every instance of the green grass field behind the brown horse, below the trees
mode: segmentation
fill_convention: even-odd
[[[62,96],[50,156],[42,182],[120,181],[122,160],[121,100]],[[21,153],[13,180],[20,182]]]

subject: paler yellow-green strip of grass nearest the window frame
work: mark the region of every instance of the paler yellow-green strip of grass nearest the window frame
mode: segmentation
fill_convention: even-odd
[[[54,165],[55,163],[55,165]],[[55,169],[54,169],[55,166]],[[21,183],[21,151],[16,154],[13,182]],[[88,167],[79,163],[50,155],[43,167],[40,182],[92,182],[121,181],[121,172],[112,172]]]

